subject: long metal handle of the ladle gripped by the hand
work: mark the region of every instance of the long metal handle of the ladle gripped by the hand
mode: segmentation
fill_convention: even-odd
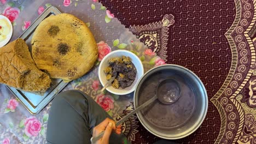
[[[146,107],[147,105],[151,104],[153,101],[155,101],[156,99],[158,99],[158,97],[155,95],[153,98],[150,98],[148,101],[146,101],[144,104],[140,105],[139,107],[137,107],[137,109],[133,110],[132,112],[130,112],[128,115],[126,115],[125,117],[123,117],[122,119],[120,119],[115,125],[120,125],[121,123],[123,123],[124,121],[126,121],[126,119],[128,119],[129,117],[131,117],[132,115],[134,115],[136,112],[142,110],[144,107]],[[100,134],[98,134],[95,137],[91,137],[91,143],[94,144],[96,143],[96,141],[100,140],[101,137],[104,135],[105,131],[102,131]]]

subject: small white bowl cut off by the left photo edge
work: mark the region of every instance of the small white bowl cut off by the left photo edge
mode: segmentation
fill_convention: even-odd
[[[13,35],[13,26],[10,20],[0,15],[0,48],[6,45]]]

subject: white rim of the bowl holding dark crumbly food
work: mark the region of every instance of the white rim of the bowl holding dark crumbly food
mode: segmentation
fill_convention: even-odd
[[[139,59],[138,56],[136,56],[134,53],[130,52],[129,50],[114,50],[112,52],[109,52],[106,56],[104,56],[104,58],[102,59],[100,65],[98,67],[98,79],[100,80],[102,86],[103,86],[103,82],[102,82],[102,79],[101,79],[102,77],[100,76],[100,70],[102,69],[103,62],[106,61],[106,59],[109,58],[110,56],[112,56],[114,53],[118,53],[118,52],[125,52],[125,53],[129,53],[130,55],[133,55],[135,57],[135,59],[138,61],[138,63],[139,63],[138,67],[142,68],[142,71],[140,72],[142,74],[141,77],[143,77],[143,75],[144,75],[144,67],[143,67],[143,64],[141,62],[141,59]],[[137,73],[138,73],[138,71],[137,71]],[[137,83],[139,82],[141,77],[138,77]],[[106,89],[107,89],[108,92],[113,93],[113,94],[125,95],[125,94],[129,94],[129,93],[134,92],[135,89],[136,89],[137,83],[129,91],[127,90],[127,92],[123,92],[123,93],[113,92],[108,87]]]

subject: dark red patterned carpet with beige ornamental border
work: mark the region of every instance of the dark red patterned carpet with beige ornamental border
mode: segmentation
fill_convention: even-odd
[[[192,70],[204,83],[209,99],[205,121],[176,142],[256,143],[255,2],[101,3],[167,63]],[[158,139],[141,124],[137,130],[132,143]]]

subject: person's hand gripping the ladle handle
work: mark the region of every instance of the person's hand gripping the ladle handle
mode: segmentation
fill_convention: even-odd
[[[115,127],[115,121],[113,121],[110,118],[106,118],[104,121],[102,121],[100,124],[98,124],[96,127],[94,127],[92,137],[96,137],[99,135],[102,131],[105,131],[104,135],[100,140],[96,142],[96,144],[108,144],[110,134],[112,133],[112,130],[116,134],[121,134],[121,125],[118,125]]]

